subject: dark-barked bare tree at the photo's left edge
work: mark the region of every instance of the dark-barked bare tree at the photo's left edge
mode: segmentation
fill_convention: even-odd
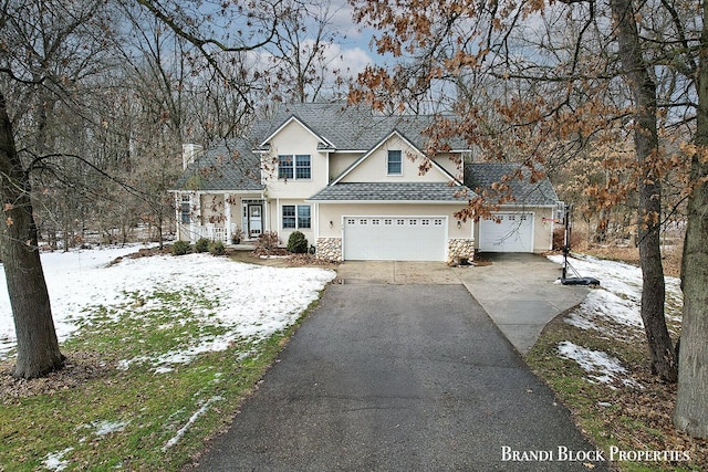
[[[34,104],[30,116],[35,129],[27,161],[18,153],[14,129],[0,101],[0,197],[6,218],[2,223],[2,260],[18,338],[17,377],[37,377],[63,365],[63,356],[52,322],[51,306],[38,248],[37,224],[31,201],[30,170],[46,158],[50,147],[49,115],[53,104],[72,104],[66,85],[76,74],[94,70],[92,48],[95,29],[101,29],[103,2],[3,2],[0,11],[0,72],[2,87],[24,87],[19,105]],[[71,70],[71,64],[80,64]],[[35,101],[34,98],[43,99]],[[20,112],[22,112],[20,109]]]

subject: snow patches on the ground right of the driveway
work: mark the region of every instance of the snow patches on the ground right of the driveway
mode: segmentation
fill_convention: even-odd
[[[562,264],[562,255],[549,259]],[[631,264],[577,255],[570,263],[582,276],[600,280],[600,286],[590,291],[583,303],[565,317],[565,323],[581,329],[593,329],[611,339],[644,343],[644,324],[641,315],[642,271]],[[667,317],[680,321],[680,281],[666,277]],[[592,381],[613,384],[615,380],[631,387],[632,380],[618,359],[606,353],[589,349],[571,342],[558,346],[561,357],[574,360]]]

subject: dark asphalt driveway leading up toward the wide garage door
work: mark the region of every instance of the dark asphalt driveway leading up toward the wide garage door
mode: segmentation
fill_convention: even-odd
[[[198,470],[606,470],[596,459],[459,280],[345,281]]]

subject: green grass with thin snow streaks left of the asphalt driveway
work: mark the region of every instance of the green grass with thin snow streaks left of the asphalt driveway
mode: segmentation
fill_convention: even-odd
[[[180,470],[230,423],[302,319],[166,373],[149,360],[118,369],[121,359],[153,359],[223,331],[208,323],[214,301],[198,291],[128,295],[118,308],[96,307],[62,346],[62,371],[15,380],[0,366],[0,470],[43,470],[50,459],[66,471]]]

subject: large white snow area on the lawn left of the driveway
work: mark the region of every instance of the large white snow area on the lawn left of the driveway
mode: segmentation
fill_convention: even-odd
[[[251,265],[210,254],[126,258],[108,266],[116,258],[138,249],[42,254],[60,343],[79,333],[82,326],[91,325],[98,307],[113,316],[129,307],[132,316],[140,316],[160,303],[159,297],[154,296],[156,293],[197,294],[210,302],[208,308],[169,305],[187,305],[188,296],[162,303],[174,312],[188,308],[192,315],[208,317],[209,324],[219,326],[221,334],[188,339],[176,352],[162,353],[159,358],[125,359],[122,364],[127,368],[137,360],[152,361],[158,369],[169,370],[170,365],[189,361],[199,353],[225,349],[235,339],[266,337],[291,325],[335,276],[329,270]],[[1,271],[0,358],[7,357],[14,346],[14,325],[4,271]]]

